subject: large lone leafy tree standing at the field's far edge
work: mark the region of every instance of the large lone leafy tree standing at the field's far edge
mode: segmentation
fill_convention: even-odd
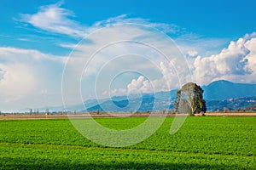
[[[175,111],[194,115],[207,111],[206,101],[203,99],[204,90],[193,82],[188,82],[176,93]]]

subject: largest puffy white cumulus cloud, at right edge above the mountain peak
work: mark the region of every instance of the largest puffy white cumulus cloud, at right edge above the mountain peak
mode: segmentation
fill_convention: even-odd
[[[255,82],[248,78],[255,72],[255,33],[231,41],[219,54],[195,59],[195,82],[207,84],[226,79],[233,82]]]

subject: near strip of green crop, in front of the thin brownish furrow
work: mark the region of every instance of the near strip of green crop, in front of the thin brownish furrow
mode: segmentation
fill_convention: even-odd
[[[0,169],[253,169],[252,156],[0,144]]]

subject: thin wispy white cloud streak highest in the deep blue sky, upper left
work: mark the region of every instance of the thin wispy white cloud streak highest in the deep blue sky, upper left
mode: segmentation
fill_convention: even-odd
[[[41,6],[36,14],[20,14],[20,21],[44,31],[60,33],[71,37],[85,37],[90,35],[91,32],[103,27],[125,23],[151,26],[160,31],[172,34],[183,31],[179,26],[173,24],[152,23],[142,18],[129,18],[126,14],[97,21],[92,26],[81,26],[79,22],[73,20],[75,18],[73,12],[67,8],[61,8],[61,5],[62,2]]]

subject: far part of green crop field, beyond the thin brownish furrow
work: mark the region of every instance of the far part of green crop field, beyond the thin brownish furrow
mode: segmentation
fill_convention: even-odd
[[[145,118],[99,118],[105,127],[125,129]],[[173,118],[150,138],[126,148],[190,153],[255,156],[256,117],[189,117],[170,135]],[[84,138],[69,120],[1,121],[0,143],[96,146]]]

